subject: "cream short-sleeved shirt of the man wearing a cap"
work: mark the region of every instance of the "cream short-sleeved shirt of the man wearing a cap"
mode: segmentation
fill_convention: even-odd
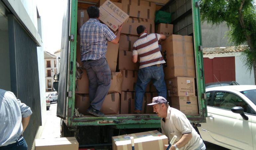
[[[186,115],[183,114],[181,111],[170,106],[168,107],[167,110],[167,117],[165,119],[165,122],[163,118],[161,120],[161,128],[162,133],[168,137],[169,142],[172,140],[174,135],[177,136],[177,142],[181,139],[181,137],[184,134],[192,134],[192,139],[189,140],[189,142],[186,145],[179,148],[179,150],[194,150],[198,148],[203,142],[200,135],[195,131],[193,126],[190,124],[190,121],[188,120]]]

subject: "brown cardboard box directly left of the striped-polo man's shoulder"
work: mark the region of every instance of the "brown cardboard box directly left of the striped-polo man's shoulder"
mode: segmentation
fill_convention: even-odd
[[[119,40],[119,50],[133,51],[133,44],[138,39],[138,36],[121,34]]]

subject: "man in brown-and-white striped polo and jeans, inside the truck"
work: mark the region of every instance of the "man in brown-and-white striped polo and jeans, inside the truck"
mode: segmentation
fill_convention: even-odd
[[[160,52],[158,41],[166,38],[163,34],[147,34],[147,29],[143,25],[137,27],[139,39],[133,44],[132,61],[137,63],[139,58],[138,79],[135,86],[135,114],[140,114],[147,84],[153,80],[158,95],[167,98],[166,84],[164,80],[164,70],[162,64],[165,63]]]

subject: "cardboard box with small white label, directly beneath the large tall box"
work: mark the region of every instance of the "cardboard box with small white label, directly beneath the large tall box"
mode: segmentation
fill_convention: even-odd
[[[194,78],[175,77],[165,81],[168,96],[195,96]]]

